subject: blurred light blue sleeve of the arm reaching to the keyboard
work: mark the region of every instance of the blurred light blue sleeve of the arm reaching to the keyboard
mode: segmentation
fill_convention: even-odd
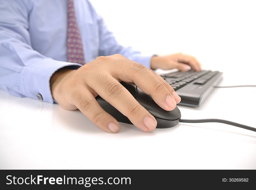
[[[97,14],[97,12],[92,7],[96,18],[97,24],[99,27],[99,55],[113,55],[113,54],[121,54],[126,58],[136,61],[150,68],[151,58],[154,55],[142,55],[140,51],[134,50],[132,47],[124,47],[120,45],[115,39],[113,33],[108,30],[103,18]]]

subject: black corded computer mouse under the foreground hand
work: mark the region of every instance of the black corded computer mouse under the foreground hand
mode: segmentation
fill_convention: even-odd
[[[172,111],[163,110],[159,105],[157,105],[150,95],[143,92],[139,87],[137,87],[134,83],[125,83],[121,82],[121,84],[134,96],[134,98],[145,107],[150,114],[152,114],[157,120],[157,128],[170,128],[174,127],[179,123],[179,119],[181,117],[180,111],[177,107],[175,107]],[[132,124],[131,121],[124,116],[121,112],[119,112],[115,107],[113,107],[110,103],[105,101],[100,96],[96,97],[99,105],[110,115],[112,115],[117,121],[122,123]]]

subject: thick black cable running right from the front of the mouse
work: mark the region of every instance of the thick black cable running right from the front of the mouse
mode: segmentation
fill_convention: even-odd
[[[256,128],[254,128],[254,127],[249,127],[249,126],[246,126],[246,125],[242,125],[242,124],[239,124],[239,123],[235,123],[235,122],[227,121],[227,120],[223,120],[223,119],[179,119],[179,122],[182,122],[182,123],[211,123],[211,122],[213,122],[213,123],[225,123],[225,124],[228,124],[228,125],[232,125],[232,126],[236,126],[236,127],[240,127],[240,128],[243,128],[243,129],[248,129],[248,130],[256,132]]]

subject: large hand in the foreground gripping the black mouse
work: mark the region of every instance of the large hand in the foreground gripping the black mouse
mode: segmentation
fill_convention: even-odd
[[[138,128],[154,130],[157,121],[120,81],[135,83],[164,110],[175,109],[181,98],[154,71],[122,55],[100,56],[77,70],[62,68],[50,80],[53,98],[66,110],[79,109],[106,132],[118,132],[118,121],[102,109],[95,97],[99,94]]]

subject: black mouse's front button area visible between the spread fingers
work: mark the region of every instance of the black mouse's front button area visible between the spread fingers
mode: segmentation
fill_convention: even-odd
[[[139,87],[137,87],[136,100],[154,117],[166,120],[177,120],[180,118],[180,112],[177,107],[177,109],[175,108],[172,111],[162,109],[159,105],[157,105],[157,103],[154,102],[150,95],[143,92],[141,89],[139,89]]]

